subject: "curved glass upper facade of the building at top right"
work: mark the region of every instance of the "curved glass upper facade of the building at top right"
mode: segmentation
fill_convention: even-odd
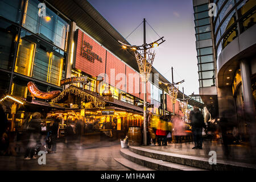
[[[219,0],[217,16],[213,18],[216,56],[220,55],[230,42],[255,24],[255,0]]]

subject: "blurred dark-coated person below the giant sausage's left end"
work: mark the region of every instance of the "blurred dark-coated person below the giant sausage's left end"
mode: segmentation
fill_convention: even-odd
[[[32,119],[27,126],[28,144],[25,152],[24,159],[36,159],[36,147],[40,145],[41,139],[41,125],[40,125],[41,114],[36,112],[32,114]]]

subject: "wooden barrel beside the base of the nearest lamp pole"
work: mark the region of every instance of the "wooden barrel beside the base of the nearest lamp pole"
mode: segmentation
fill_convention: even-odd
[[[129,127],[129,146],[141,146],[141,127]]]

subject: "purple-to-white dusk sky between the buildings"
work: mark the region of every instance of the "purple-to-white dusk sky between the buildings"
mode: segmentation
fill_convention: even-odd
[[[199,93],[197,74],[195,24],[192,0],[89,0],[92,6],[124,38],[142,21],[146,21],[166,42],[156,49],[153,66],[171,82],[171,67],[174,81],[185,80],[179,86],[185,94]],[[146,42],[159,36],[146,24]],[[121,40],[122,41],[122,40]],[[131,34],[127,41],[132,45],[143,44],[143,24]]]

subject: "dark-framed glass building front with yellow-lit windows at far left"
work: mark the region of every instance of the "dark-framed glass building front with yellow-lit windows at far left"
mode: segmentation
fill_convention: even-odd
[[[27,82],[39,89],[61,90],[65,78],[69,20],[46,3],[39,16],[40,1],[0,2],[1,92],[26,98]],[[10,84],[7,84],[10,83]]]

